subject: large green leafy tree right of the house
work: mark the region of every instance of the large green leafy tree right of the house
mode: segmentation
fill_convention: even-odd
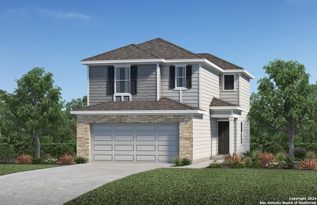
[[[251,104],[248,118],[285,133],[289,154],[294,157],[294,138],[315,123],[311,116],[316,108],[308,98],[309,74],[297,61],[275,59],[263,68],[268,77],[258,81],[258,100]]]

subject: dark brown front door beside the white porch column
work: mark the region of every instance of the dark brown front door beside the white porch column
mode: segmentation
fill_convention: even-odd
[[[218,154],[229,153],[229,122],[218,122]]]

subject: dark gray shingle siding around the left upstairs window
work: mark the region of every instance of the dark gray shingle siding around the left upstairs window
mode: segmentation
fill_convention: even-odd
[[[132,101],[154,101],[156,99],[156,64],[141,64],[138,66],[137,94],[132,95]],[[89,66],[89,104],[113,101],[113,95],[107,94],[108,68]],[[120,101],[121,98],[116,98]],[[124,98],[127,100],[127,98]]]

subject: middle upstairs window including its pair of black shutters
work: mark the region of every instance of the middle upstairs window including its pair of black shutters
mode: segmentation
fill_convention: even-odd
[[[192,88],[192,66],[169,66],[169,88]]]

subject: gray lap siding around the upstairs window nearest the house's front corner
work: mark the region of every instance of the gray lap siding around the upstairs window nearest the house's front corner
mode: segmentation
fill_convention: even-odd
[[[184,64],[185,65],[185,64]],[[198,100],[198,64],[192,65],[192,88],[187,91],[182,91],[182,103],[193,107],[199,106]],[[170,98],[174,101],[180,100],[179,91],[169,88],[169,66],[161,66],[161,97]]]

